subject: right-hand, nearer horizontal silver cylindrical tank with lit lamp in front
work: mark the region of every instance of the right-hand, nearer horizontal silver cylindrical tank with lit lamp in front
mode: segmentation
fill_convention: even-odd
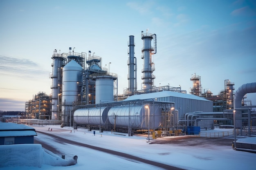
[[[148,115],[150,116],[148,117]],[[149,110],[146,108],[146,105],[119,106],[112,107],[108,111],[110,124],[116,124],[116,126],[148,128],[148,118],[150,128],[159,126],[161,123],[161,110],[159,106],[155,106],[155,108],[149,106]]]

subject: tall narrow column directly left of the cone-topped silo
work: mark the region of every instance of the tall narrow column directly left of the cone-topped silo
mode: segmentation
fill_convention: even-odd
[[[61,101],[61,86],[62,86],[62,68],[65,66],[66,58],[61,54],[56,53],[52,55],[52,120],[59,117],[60,101]]]

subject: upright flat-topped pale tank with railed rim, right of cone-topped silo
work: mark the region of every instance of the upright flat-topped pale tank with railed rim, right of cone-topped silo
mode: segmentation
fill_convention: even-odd
[[[94,77],[95,82],[95,103],[114,101],[114,79],[110,75],[99,75]]]

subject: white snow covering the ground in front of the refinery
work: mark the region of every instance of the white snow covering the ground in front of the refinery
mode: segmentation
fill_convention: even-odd
[[[31,126],[37,131],[43,131],[50,134],[58,135],[65,139],[74,140],[84,144],[89,144],[93,146],[98,146],[101,148],[111,149],[119,152],[124,152],[130,155],[134,155],[140,158],[156,161],[159,163],[168,164],[171,166],[176,166],[179,168],[184,168],[187,170],[216,170],[216,169],[232,169],[232,170],[254,170],[254,163],[256,161],[255,153],[243,152],[233,150],[232,146],[206,146],[200,148],[199,146],[179,146],[178,144],[149,144],[146,137],[143,136],[132,136],[128,137],[127,134],[121,133],[111,133],[102,132],[95,130],[88,131],[84,128],[79,128],[74,130],[72,127],[61,128],[58,126]],[[52,131],[48,129],[52,128]],[[222,129],[218,129],[219,131]],[[224,129],[223,129],[224,130]],[[231,129],[229,129],[231,130]],[[214,130],[205,130],[204,132],[211,132]],[[33,161],[26,158],[26,155],[30,155],[27,152],[22,152],[16,150],[16,152],[6,153],[2,155],[2,150],[4,147],[11,146],[1,146],[0,147],[0,165],[3,165],[3,159],[8,155],[12,158],[12,164],[8,164],[9,167],[2,167],[0,170],[13,170],[13,167],[19,170],[79,170],[79,169],[94,169],[94,170],[130,170],[130,169],[147,169],[147,170],[160,170],[152,165],[146,163],[141,163],[139,161],[129,160],[123,157],[118,157],[115,155],[110,155],[105,152],[100,152],[97,150],[92,150],[90,148],[84,148],[81,146],[75,146],[71,144],[65,144],[63,142],[56,142],[56,140],[50,136],[37,133],[35,139],[44,141],[50,144],[63,155],[65,155],[65,160],[70,161],[73,159],[74,155],[78,156],[77,163],[73,166],[56,166],[65,165],[64,159],[63,163],[55,164],[52,166],[54,160],[60,162],[61,155],[52,154],[49,151],[42,151],[38,149],[38,152],[43,153],[42,164],[39,168],[38,166],[33,166]],[[118,135],[121,134],[121,135]],[[244,138],[238,139],[240,142],[250,141],[255,143],[256,138]],[[38,144],[34,144],[38,145]],[[13,145],[12,145],[13,146]],[[19,145],[25,150],[29,150],[29,145],[23,144]],[[15,147],[15,146],[14,146]],[[31,150],[31,149],[30,149]],[[41,150],[41,151],[40,151]],[[51,154],[49,154],[51,153]],[[23,156],[23,155],[24,156]],[[54,158],[54,159],[53,159]],[[24,165],[25,160],[31,162],[31,164]],[[52,161],[49,163],[49,161]],[[22,166],[23,165],[23,166]]]

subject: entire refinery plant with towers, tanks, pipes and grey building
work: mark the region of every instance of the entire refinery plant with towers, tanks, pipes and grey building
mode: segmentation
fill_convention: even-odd
[[[52,55],[52,94],[43,92],[26,102],[31,119],[48,119],[63,126],[85,127],[126,132],[153,133],[161,130],[167,135],[173,130],[193,127],[211,128],[233,125],[241,129],[256,126],[256,114],[247,93],[256,93],[256,83],[244,84],[236,93],[234,82],[224,80],[224,90],[213,95],[202,91],[201,77],[191,75],[193,87],[189,93],[181,87],[154,85],[155,64],[151,55],[157,53],[156,34],[141,31],[143,68],[142,89],[137,89],[137,58],[134,36],[128,39],[128,88],[118,95],[118,76],[102,66],[102,58],[88,53]],[[236,113],[236,114],[234,114]],[[234,115],[236,115],[234,117]]]

